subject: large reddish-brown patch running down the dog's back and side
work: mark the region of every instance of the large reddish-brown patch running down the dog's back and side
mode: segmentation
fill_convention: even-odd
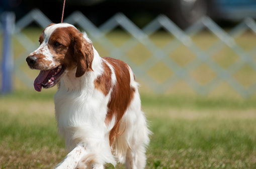
[[[133,99],[135,88],[130,86],[130,72],[128,64],[111,57],[104,57],[104,59],[114,67],[117,78],[116,83],[113,84],[111,98],[108,103],[108,113],[105,119],[105,123],[108,124],[114,116],[116,117],[114,127],[111,129],[109,134],[110,145],[112,145],[115,137],[124,132],[119,132],[119,122]]]

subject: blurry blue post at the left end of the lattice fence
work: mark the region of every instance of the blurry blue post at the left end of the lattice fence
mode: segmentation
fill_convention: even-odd
[[[14,29],[15,14],[13,12],[4,12],[3,20],[3,60],[2,60],[2,88],[1,93],[10,93],[13,90],[13,53],[12,53],[12,33]]]

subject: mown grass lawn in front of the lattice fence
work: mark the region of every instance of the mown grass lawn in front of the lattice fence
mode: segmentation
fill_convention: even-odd
[[[52,168],[62,161],[55,90],[0,97],[2,168]],[[153,131],[146,168],[256,167],[256,100],[143,93],[141,99]]]

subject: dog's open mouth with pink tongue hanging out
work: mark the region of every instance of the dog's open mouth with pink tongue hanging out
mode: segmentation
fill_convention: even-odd
[[[34,81],[35,90],[41,91],[44,88],[53,87],[58,81],[61,74],[64,72],[64,65],[59,65],[49,70],[41,70]]]

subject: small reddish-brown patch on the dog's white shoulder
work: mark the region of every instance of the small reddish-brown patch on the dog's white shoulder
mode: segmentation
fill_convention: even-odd
[[[106,96],[109,93],[112,85],[111,69],[106,64],[104,59],[102,62],[102,66],[104,67],[104,72],[94,80],[94,85],[95,85],[95,88],[102,91]]]

